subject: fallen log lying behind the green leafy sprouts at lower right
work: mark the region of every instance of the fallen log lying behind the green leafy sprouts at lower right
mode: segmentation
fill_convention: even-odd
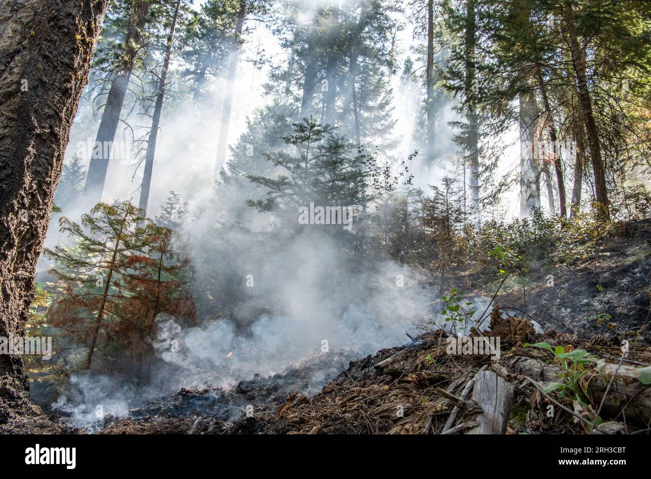
[[[605,394],[616,369],[616,364],[605,364],[602,368],[603,377],[596,370],[588,373],[586,382],[592,400],[599,405],[605,396],[602,407],[604,418],[618,418],[624,414],[627,423],[648,427],[651,422],[651,387],[640,383],[633,372],[622,366],[616,381],[613,381],[608,394]],[[561,366],[523,356],[516,356],[510,362],[509,370],[534,381],[544,382],[558,381],[558,375],[562,373]]]

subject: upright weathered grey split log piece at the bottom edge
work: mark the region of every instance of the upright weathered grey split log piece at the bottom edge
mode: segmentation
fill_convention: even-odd
[[[513,386],[493,371],[480,371],[475,376],[472,399],[482,413],[477,414],[478,425],[465,433],[504,434],[513,405]]]

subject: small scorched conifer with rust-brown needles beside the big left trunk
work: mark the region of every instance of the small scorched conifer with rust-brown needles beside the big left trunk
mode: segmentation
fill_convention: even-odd
[[[158,312],[192,314],[188,298],[183,306],[166,300],[178,292],[182,283],[175,277],[186,263],[163,263],[173,256],[169,230],[143,220],[137,207],[98,203],[81,224],[62,217],[60,225],[76,244],[45,250],[56,261],[51,272],[66,288],[49,318],[78,347],[87,348],[83,369],[90,369],[100,347],[113,357],[130,347],[142,353]]]

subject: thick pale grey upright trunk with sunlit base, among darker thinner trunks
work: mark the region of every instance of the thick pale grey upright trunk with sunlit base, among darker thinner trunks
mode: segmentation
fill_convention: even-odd
[[[540,208],[540,163],[534,148],[538,104],[533,91],[519,94],[520,123],[520,216]]]

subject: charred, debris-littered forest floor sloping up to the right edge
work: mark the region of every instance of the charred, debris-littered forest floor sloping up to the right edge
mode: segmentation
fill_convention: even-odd
[[[506,433],[588,433],[594,431],[597,412],[604,421],[597,423],[602,433],[644,431],[651,422],[651,388],[640,382],[649,374],[641,368],[651,363],[649,225],[631,224],[594,257],[537,272],[524,285],[500,291],[483,331],[501,338],[497,360],[489,354],[449,354],[448,333],[432,325],[409,345],[365,358],[357,358],[353,348],[329,351],[233,388],[182,388],[132,409],[128,418],[106,416],[94,430],[72,430],[57,420],[43,431],[441,433],[456,423],[451,432],[473,431],[482,413],[468,383],[478,381],[480,370],[510,391],[508,414],[499,426]],[[553,274],[553,286],[548,274]],[[542,332],[536,333],[532,319]],[[623,340],[630,351],[622,359]],[[574,363],[557,357],[559,351],[525,347],[539,341],[561,347],[561,354],[585,350],[593,361]],[[596,364],[599,359],[602,363]],[[549,394],[527,379],[549,384],[563,371],[579,379]],[[449,421],[450,414],[456,420]]]

